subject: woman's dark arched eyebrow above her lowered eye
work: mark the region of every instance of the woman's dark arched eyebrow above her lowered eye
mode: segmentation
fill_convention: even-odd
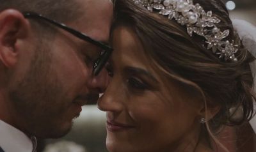
[[[145,75],[151,80],[154,80],[155,82],[158,83],[158,80],[147,70],[144,70],[143,68],[136,68],[132,66],[125,66],[124,68],[125,73],[134,73],[134,74],[140,74],[140,75]]]

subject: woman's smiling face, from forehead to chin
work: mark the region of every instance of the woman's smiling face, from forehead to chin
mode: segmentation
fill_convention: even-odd
[[[113,77],[98,102],[107,112],[108,150],[172,151],[198,127],[199,104],[154,70],[131,29],[117,27],[112,41]]]

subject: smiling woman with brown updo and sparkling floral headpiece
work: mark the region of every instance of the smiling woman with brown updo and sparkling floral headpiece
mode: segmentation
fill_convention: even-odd
[[[227,151],[221,126],[252,119],[255,57],[221,0],[117,0],[111,38],[110,152]]]

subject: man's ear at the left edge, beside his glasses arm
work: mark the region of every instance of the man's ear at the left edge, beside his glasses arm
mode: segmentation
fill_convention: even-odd
[[[6,67],[17,63],[19,45],[28,36],[29,23],[17,10],[0,13],[0,61]]]

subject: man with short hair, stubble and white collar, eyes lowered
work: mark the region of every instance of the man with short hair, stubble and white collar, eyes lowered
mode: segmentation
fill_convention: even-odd
[[[0,0],[0,152],[35,151],[35,137],[65,135],[97,101],[112,11],[111,0]]]

